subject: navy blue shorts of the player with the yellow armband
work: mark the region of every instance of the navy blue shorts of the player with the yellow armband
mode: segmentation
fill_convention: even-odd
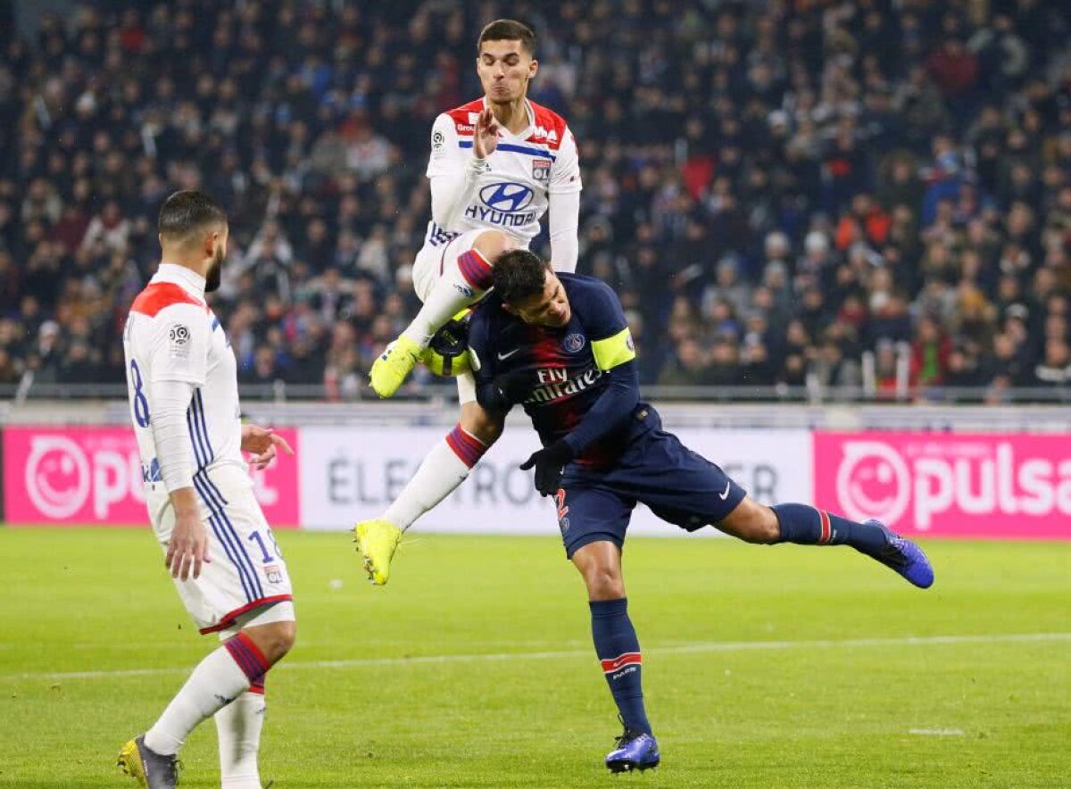
[[[718,466],[692,452],[657,422],[637,436],[617,464],[591,470],[570,464],[558,491],[558,528],[565,556],[608,540],[619,548],[636,503],[685,531],[718,524],[746,496]]]

